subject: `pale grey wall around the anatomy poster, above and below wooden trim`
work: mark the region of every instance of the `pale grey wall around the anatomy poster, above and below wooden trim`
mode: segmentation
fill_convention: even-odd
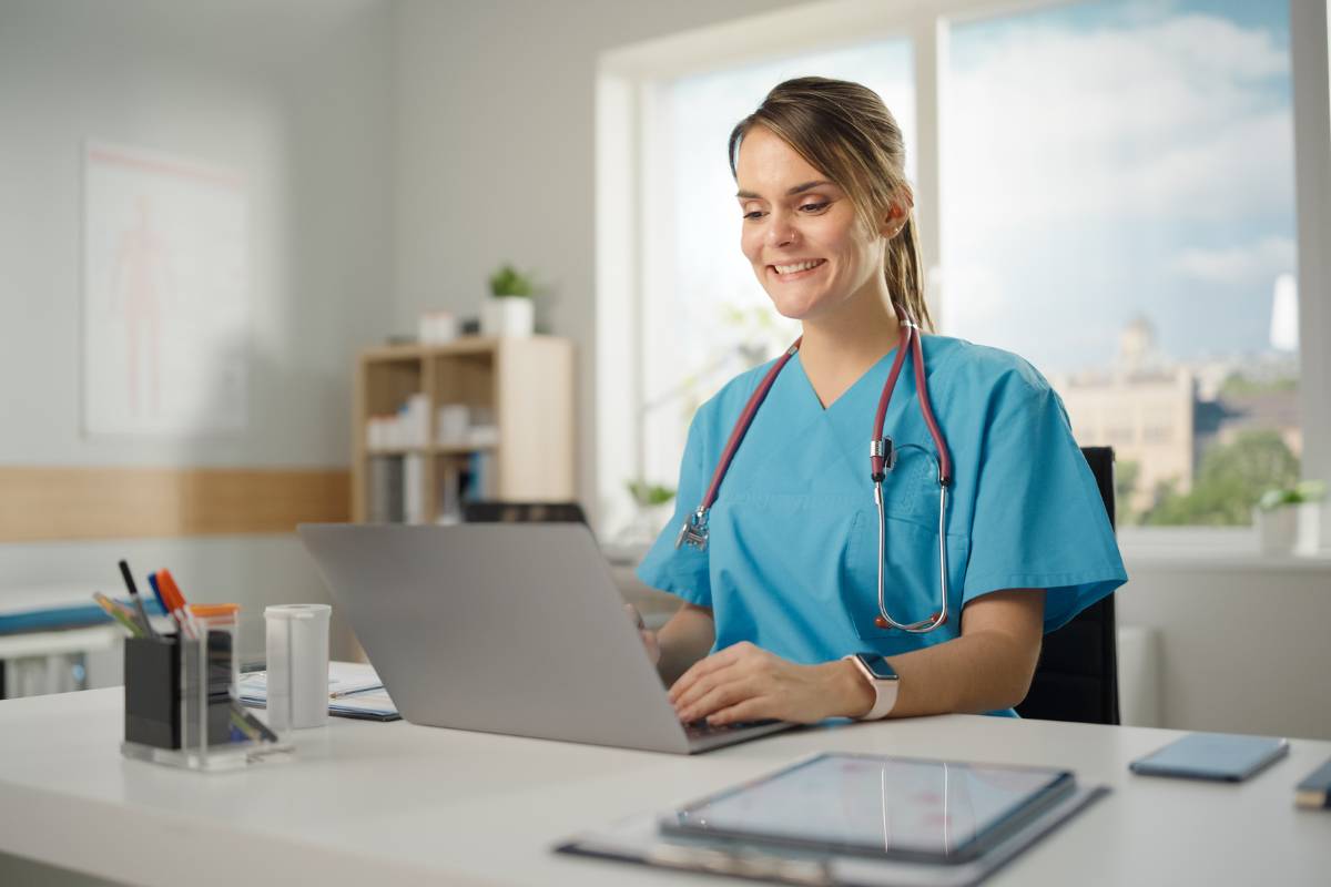
[[[387,0],[0,0],[0,464],[349,464],[351,356],[390,326],[393,40]],[[244,434],[80,434],[85,138],[246,181]],[[110,590],[125,555],[252,616],[326,600],[294,536],[0,545],[0,589]]]

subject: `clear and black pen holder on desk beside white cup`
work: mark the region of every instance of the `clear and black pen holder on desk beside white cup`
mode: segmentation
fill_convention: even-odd
[[[189,609],[180,633],[125,640],[121,754],[189,770],[225,770],[289,751],[290,743],[237,698],[238,608]]]

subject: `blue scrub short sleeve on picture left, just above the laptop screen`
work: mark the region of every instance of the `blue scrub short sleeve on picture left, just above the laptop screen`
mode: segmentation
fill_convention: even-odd
[[[660,536],[638,565],[638,578],[652,588],[669,592],[689,604],[712,605],[712,586],[708,577],[707,551],[692,545],[675,548],[679,528],[703,500],[704,484],[711,480],[704,465],[705,418],[700,410],[688,427],[688,442],[679,467],[679,487],[675,493],[675,513]]]

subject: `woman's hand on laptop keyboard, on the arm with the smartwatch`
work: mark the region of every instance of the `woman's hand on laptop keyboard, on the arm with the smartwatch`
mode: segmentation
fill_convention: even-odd
[[[741,641],[695,664],[669,689],[684,723],[723,725],[779,718],[815,723],[857,717],[873,706],[873,688],[852,662],[796,665]]]

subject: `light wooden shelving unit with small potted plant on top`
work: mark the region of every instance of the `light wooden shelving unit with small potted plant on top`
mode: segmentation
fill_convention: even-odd
[[[377,346],[357,355],[351,410],[351,520],[369,520],[370,459],[425,456],[419,481],[426,521],[439,513],[449,464],[475,452],[492,456],[488,496],[510,501],[571,501],[574,484],[574,347],[567,339],[467,336],[447,344]],[[394,414],[410,395],[430,403],[425,445],[370,451],[371,416]],[[492,412],[498,438],[488,445],[441,443],[437,411],[465,403]]]

